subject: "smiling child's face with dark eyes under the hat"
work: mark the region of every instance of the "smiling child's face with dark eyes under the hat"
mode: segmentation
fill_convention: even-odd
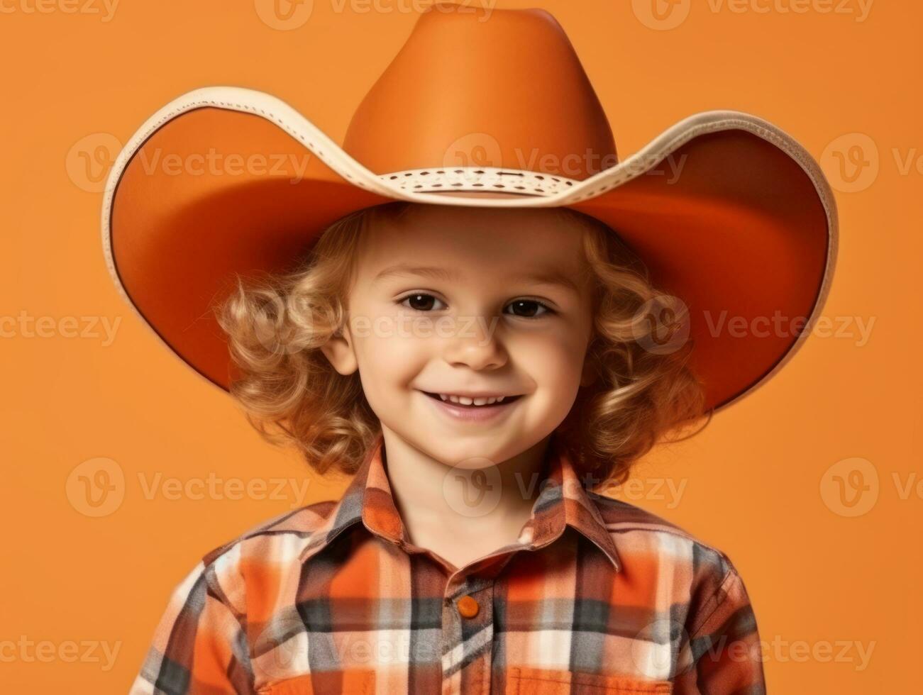
[[[382,427],[414,448],[467,468],[506,461],[564,420],[581,385],[582,234],[551,210],[414,206],[366,234],[349,327],[324,352],[341,374],[358,368]]]

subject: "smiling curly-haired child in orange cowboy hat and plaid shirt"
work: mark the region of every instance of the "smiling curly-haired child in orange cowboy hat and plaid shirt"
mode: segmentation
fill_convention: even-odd
[[[689,156],[673,184],[621,165],[594,175],[589,159],[573,177],[506,159],[438,169],[420,150],[426,138],[402,139],[386,117],[391,88],[436,84],[418,49],[532,47],[559,68],[550,96],[537,97],[558,105],[548,123],[576,124],[553,128],[572,139],[557,151],[615,148],[550,16],[494,10],[478,23],[462,6],[435,7],[357,111],[344,146],[355,160],[282,102],[214,88],[223,94],[200,90],[155,114],[116,162],[105,239],[132,306],[270,441],[319,472],[353,473],[340,500],[203,557],[132,692],[763,692],[754,613],[728,557],[593,488],[624,481],[654,443],[707,422],[798,343],[703,332],[652,267],[700,306],[751,316],[807,298],[813,317],[832,269],[829,190],[796,144],[746,114],[662,138],[652,166]],[[527,70],[518,51],[500,64]],[[467,103],[492,84],[509,90],[500,73],[480,73]],[[495,96],[513,138],[514,107],[535,114],[536,97]],[[561,113],[569,104],[582,118]],[[454,117],[415,121],[416,132]],[[182,156],[203,138],[234,138],[234,151],[298,145],[270,133],[270,120],[325,157],[298,186],[286,182],[295,195],[265,174],[180,186],[132,168],[142,146]],[[480,132],[473,125],[466,132]],[[530,137],[553,150],[540,130]],[[749,166],[761,175],[744,175]],[[151,222],[151,201],[177,213]],[[195,269],[179,288],[175,258]],[[761,264],[792,272],[757,278]],[[241,277],[253,269],[267,272]],[[214,302],[230,279],[233,292]],[[227,346],[214,324],[196,332],[189,319],[203,306],[217,309]]]

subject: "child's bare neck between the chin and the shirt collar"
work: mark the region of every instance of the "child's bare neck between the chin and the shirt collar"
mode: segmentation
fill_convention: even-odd
[[[429,456],[387,427],[382,435],[391,494],[412,543],[435,528],[489,534],[498,545],[515,540],[541,492],[550,435],[507,461],[471,470]]]

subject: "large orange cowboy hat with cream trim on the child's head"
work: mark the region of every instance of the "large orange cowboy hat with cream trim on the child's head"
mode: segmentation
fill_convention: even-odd
[[[138,315],[228,389],[234,365],[210,306],[234,275],[294,270],[331,222],[392,200],[567,207],[605,222],[689,307],[691,366],[715,410],[791,358],[833,276],[833,194],[794,138],[709,111],[617,162],[555,18],[445,4],[418,19],[342,147],[264,92],[208,87],[168,103],[114,163],[102,243]],[[780,317],[796,330],[765,330]]]

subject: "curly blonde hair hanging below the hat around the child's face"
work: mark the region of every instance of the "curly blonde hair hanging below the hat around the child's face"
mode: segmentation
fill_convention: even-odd
[[[232,294],[216,307],[239,371],[232,396],[262,437],[294,445],[318,473],[331,467],[354,473],[380,433],[358,372],[342,376],[320,347],[348,320],[345,297],[363,234],[399,219],[412,205],[390,202],[343,217],[320,234],[296,270],[246,282],[237,276]],[[676,330],[684,317],[667,327],[644,320],[650,307],[663,307],[670,298],[653,288],[641,260],[603,222],[575,210],[551,210],[585,232],[594,278],[586,359],[595,376],[579,390],[552,442],[581,477],[618,485],[659,440],[701,419],[704,390],[687,365],[691,342],[650,349],[659,344],[652,331]]]

